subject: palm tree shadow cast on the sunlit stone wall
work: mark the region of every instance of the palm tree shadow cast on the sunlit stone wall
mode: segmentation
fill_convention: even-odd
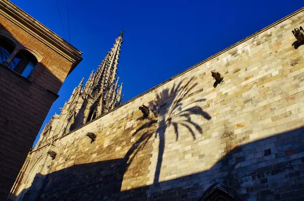
[[[180,81],[177,85],[173,85],[170,89],[164,89],[162,92],[156,94],[156,99],[149,102],[149,109],[154,113],[155,118],[149,118],[149,122],[143,124],[139,129],[135,131],[133,135],[136,135],[139,131],[148,128],[152,125],[156,125],[155,138],[159,137],[159,152],[158,160],[155,171],[154,183],[159,183],[160,170],[163,161],[163,154],[165,148],[165,133],[166,130],[172,126],[174,128],[176,141],[179,138],[179,127],[186,128],[192,135],[193,139],[196,139],[196,132],[203,134],[203,130],[199,124],[192,120],[193,115],[201,116],[205,119],[210,120],[211,116],[203,111],[203,109],[198,106],[192,106],[193,104],[198,104],[205,101],[206,99],[199,99],[191,102],[190,104],[184,105],[182,100],[189,96],[197,84],[191,84],[193,78],[191,78],[185,85],[183,81]],[[137,120],[142,120],[138,118]]]

